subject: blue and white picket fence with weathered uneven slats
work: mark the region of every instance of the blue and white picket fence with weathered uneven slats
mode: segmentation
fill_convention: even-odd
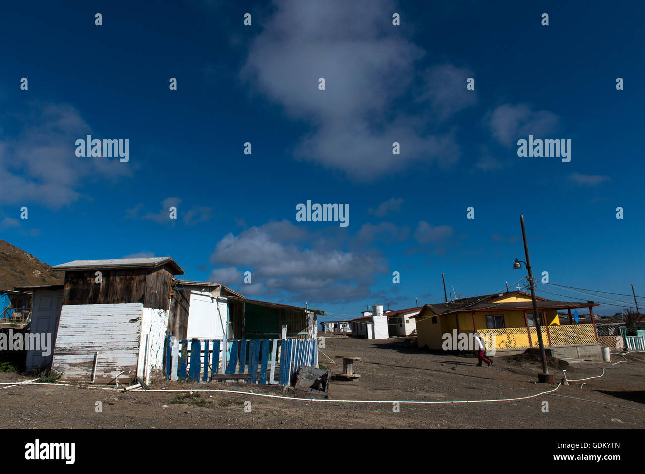
[[[166,344],[166,379],[207,382],[223,374],[248,373],[247,383],[287,385],[302,366],[318,367],[315,339],[219,339]],[[277,380],[276,380],[277,376]]]

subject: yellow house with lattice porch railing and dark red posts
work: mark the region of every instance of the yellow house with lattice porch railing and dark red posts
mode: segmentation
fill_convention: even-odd
[[[597,346],[598,336],[590,302],[552,301],[537,297],[544,346]],[[571,310],[589,308],[590,324],[572,324]],[[557,310],[568,310],[569,324],[560,324]],[[417,320],[417,344],[420,348],[442,350],[446,333],[477,331],[485,341],[494,341],[496,351],[524,351],[539,346],[533,300],[522,291],[506,291],[495,295],[462,298],[440,304],[426,304]],[[487,344],[487,349],[493,347]]]

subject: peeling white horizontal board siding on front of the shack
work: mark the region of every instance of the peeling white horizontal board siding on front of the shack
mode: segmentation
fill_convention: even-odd
[[[63,372],[63,379],[91,380],[99,351],[97,383],[108,383],[121,371],[119,379],[134,379],[142,318],[141,303],[63,305],[52,370]]]

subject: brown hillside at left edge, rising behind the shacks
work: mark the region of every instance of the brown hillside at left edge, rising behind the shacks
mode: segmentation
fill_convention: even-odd
[[[14,286],[62,283],[62,273],[52,272],[51,266],[31,253],[0,240],[0,290],[13,290]]]

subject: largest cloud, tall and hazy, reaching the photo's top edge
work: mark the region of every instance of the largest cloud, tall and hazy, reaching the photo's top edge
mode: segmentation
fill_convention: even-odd
[[[424,51],[392,28],[389,0],[275,2],[275,13],[252,42],[241,75],[286,112],[312,124],[293,156],[370,181],[414,163],[459,159],[452,135],[428,135],[419,117],[406,117],[397,103],[410,91],[414,63]],[[443,67],[446,75],[460,70]],[[432,74],[432,72],[431,72]],[[434,74],[439,74],[435,72]],[[326,90],[318,90],[324,77]],[[461,80],[461,79],[460,79]],[[421,99],[442,111],[465,106],[450,84]],[[465,83],[463,84],[465,90]],[[468,99],[470,101],[470,99]],[[392,144],[401,144],[401,155]]]

